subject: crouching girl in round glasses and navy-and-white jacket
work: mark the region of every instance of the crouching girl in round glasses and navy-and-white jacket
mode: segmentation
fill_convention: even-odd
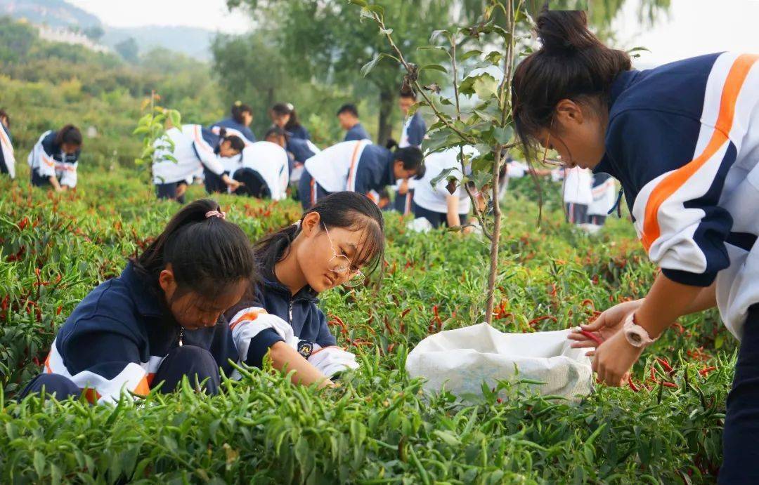
[[[383,261],[379,208],[356,192],[336,192],[254,247],[263,278],[226,314],[247,363],[260,366],[269,355],[274,368],[295,371],[294,382],[321,386],[356,368],[354,355],[336,346],[317,296],[363,283],[361,270]]]

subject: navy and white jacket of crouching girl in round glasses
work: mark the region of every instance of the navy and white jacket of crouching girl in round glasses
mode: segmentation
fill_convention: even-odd
[[[337,346],[318,303],[310,286],[292,295],[272,268],[263,268],[253,296],[226,313],[240,355],[246,355],[248,365],[261,367],[269,349],[284,342],[327,377],[357,368],[355,356]]]

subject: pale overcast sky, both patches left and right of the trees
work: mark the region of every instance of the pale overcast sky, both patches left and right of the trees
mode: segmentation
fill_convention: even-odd
[[[593,0],[591,0],[592,2]],[[69,0],[115,27],[185,25],[225,33],[250,29],[243,11],[229,13],[225,0]],[[592,4],[591,4],[592,5]],[[640,67],[709,52],[759,53],[759,0],[672,0],[669,16],[641,25],[640,0],[627,0],[614,27],[621,48],[645,46]]]

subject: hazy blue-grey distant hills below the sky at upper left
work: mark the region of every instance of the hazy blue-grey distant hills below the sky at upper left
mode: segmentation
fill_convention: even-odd
[[[65,0],[0,0],[0,16],[9,15],[34,24],[51,27],[100,27],[105,31],[104,45],[113,48],[118,42],[134,37],[140,54],[154,47],[168,48],[200,61],[211,58],[210,42],[215,33],[196,27],[109,27],[93,14],[71,5]]]

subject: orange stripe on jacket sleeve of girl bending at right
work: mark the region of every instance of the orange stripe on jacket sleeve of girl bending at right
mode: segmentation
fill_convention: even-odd
[[[689,161],[676,171],[673,171],[651,191],[646,204],[643,223],[642,243],[648,251],[654,241],[659,239],[661,228],[659,227],[659,209],[661,205],[682,187],[688,179],[695,174],[704,164],[723,146],[728,140],[728,134],[732,128],[732,120],[735,117],[735,101],[741,92],[743,83],[754,63],[759,60],[759,55],[740,55],[735,59],[725,80],[722,95],[720,97],[720,113],[717,116],[716,126],[709,143],[701,155]]]

